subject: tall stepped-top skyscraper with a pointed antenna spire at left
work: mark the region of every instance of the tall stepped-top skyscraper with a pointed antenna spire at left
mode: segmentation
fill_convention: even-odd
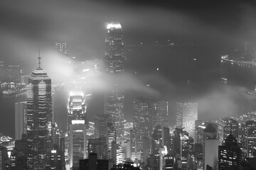
[[[29,169],[46,169],[47,149],[52,148],[52,98],[51,79],[40,67],[28,79],[27,134]]]

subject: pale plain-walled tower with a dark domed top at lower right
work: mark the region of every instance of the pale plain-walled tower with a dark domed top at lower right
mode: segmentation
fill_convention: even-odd
[[[220,141],[218,139],[218,128],[215,128],[214,123],[209,123],[204,130],[203,142],[203,169],[210,166],[213,169],[218,165],[218,146]]]

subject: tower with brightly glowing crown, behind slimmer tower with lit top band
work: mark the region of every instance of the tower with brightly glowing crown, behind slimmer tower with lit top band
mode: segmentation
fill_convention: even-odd
[[[72,120],[85,120],[85,95],[82,91],[71,91],[68,98],[68,132]]]

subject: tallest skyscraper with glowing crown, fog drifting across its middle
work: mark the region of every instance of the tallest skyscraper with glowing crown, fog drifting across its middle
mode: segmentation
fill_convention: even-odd
[[[110,121],[117,130],[117,138],[124,135],[124,91],[115,76],[124,72],[124,42],[120,23],[107,24],[107,50],[105,52],[105,70],[113,76],[110,89],[105,94],[104,113],[110,115]]]

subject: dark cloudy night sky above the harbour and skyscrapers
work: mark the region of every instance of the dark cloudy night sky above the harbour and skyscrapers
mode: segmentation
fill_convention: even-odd
[[[104,50],[105,23],[119,21],[128,43],[255,41],[255,6],[238,1],[1,1],[0,57],[34,62],[38,48],[68,41]]]

